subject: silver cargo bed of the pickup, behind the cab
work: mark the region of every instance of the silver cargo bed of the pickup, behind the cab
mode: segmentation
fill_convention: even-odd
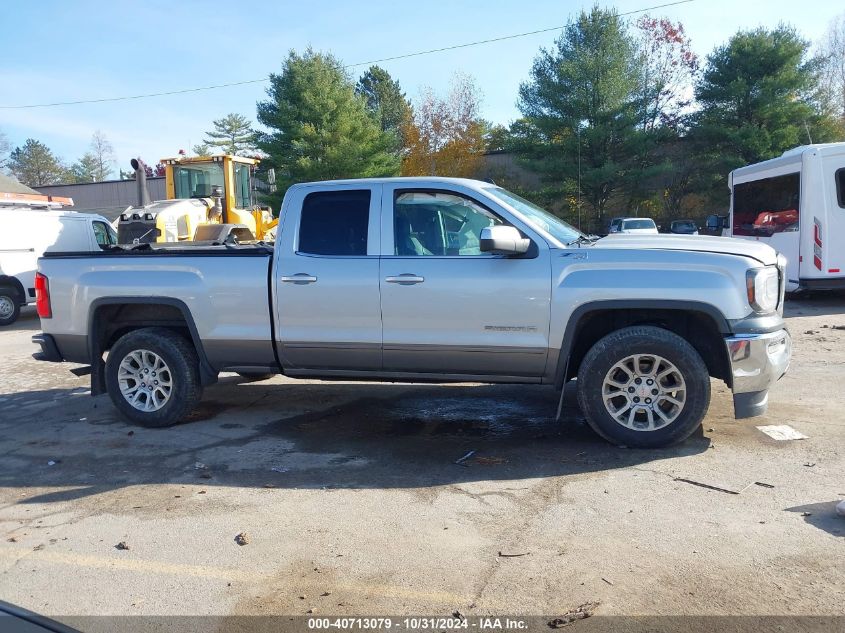
[[[99,311],[121,317],[147,305],[182,312],[214,371],[276,365],[270,311],[273,250],[266,244],[155,244],[100,253],[50,253],[39,270],[50,284],[53,316],[42,321],[62,356],[89,363]],[[84,299],[83,299],[84,297]],[[80,300],[83,299],[83,300]],[[111,312],[102,319],[114,318]],[[56,331],[53,324],[61,323]]]

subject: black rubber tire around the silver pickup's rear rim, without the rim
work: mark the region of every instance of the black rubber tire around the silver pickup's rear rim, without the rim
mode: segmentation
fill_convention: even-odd
[[[157,354],[170,372],[170,397],[155,411],[136,409],[120,391],[120,363],[128,354],[137,350],[148,350]],[[124,334],[109,350],[106,360],[106,388],[117,410],[132,422],[149,428],[177,424],[194,410],[202,397],[196,350],[190,341],[166,328],[150,327]]]

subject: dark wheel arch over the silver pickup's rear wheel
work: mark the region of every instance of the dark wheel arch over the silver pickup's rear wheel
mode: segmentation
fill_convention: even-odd
[[[91,394],[106,391],[103,352],[127,332],[165,327],[189,340],[199,359],[203,386],[217,382],[217,371],[203,348],[187,304],[173,297],[102,297],[88,308],[88,357],[91,359]]]

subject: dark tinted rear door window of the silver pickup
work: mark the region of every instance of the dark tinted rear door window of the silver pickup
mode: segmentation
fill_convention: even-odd
[[[370,190],[318,191],[305,196],[297,252],[307,255],[367,254]]]

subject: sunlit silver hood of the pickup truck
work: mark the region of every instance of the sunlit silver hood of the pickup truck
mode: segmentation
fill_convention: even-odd
[[[765,266],[777,263],[777,251],[767,244],[732,237],[701,235],[626,235],[614,234],[600,239],[593,248],[631,248],[667,251],[723,253],[756,259]]]

